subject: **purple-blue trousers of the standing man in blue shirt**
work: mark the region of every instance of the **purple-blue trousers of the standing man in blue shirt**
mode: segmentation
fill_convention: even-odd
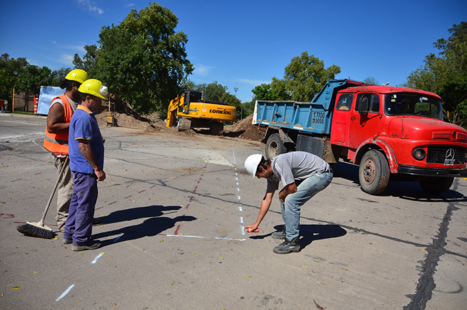
[[[71,197],[63,238],[73,239],[73,245],[91,241],[95,202],[98,200],[98,180],[95,175],[73,172]]]

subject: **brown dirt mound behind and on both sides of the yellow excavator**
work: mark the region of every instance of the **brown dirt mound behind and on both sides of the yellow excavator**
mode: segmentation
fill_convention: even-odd
[[[102,107],[100,113],[95,115],[98,120],[99,126],[106,126],[107,115],[113,114],[115,119],[115,126],[130,127],[141,129],[144,133],[155,133],[158,131],[167,131],[176,135],[196,135],[193,130],[179,132],[175,127],[166,127],[165,117],[159,115],[159,113],[152,113],[151,115],[140,115],[133,110],[129,104],[125,102],[116,102],[114,111],[109,112],[108,108]],[[231,126],[225,126],[224,136],[225,137],[238,137],[240,139],[260,141],[264,137],[266,129],[251,124],[253,115],[250,115],[243,120],[236,122]]]

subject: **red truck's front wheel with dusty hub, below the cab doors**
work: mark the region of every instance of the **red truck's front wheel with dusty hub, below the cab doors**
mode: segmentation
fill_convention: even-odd
[[[358,169],[358,179],[364,192],[378,195],[383,192],[389,183],[389,165],[383,153],[369,150],[363,155]]]

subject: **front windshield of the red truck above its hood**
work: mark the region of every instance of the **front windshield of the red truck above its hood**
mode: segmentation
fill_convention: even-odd
[[[386,115],[417,115],[443,119],[441,102],[419,93],[389,93],[385,96]]]

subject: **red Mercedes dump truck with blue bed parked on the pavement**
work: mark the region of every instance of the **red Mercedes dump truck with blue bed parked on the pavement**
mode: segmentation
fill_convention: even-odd
[[[430,194],[466,177],[467,131],[444,122],[435,93],[328,80],[312,102],[257,100],[253,124],[266,126],[266,157],[307,151],[332,164],[359,165],[363,191],[391,180],[419,181]]]

